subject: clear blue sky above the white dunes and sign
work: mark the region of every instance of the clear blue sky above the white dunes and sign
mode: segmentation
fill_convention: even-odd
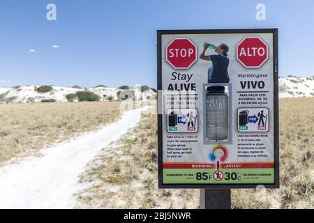
[[[46,20],[48,3],[57,21]],[[255,19],[257,3],[266,21]],[[312,76],[313,24],[311,0],[3,0],[0,87],[156,86],[157,29],[278,27],[280,75]]]

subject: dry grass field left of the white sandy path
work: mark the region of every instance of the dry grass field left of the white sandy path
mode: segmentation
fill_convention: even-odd
[[[12,157],[94,130],[119,116],[119,102],[0,105],[0,166]]]

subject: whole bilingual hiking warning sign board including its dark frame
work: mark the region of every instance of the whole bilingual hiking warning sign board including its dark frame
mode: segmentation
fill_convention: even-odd
[[[160,188],[278,187],[277,29],[158,31]]]

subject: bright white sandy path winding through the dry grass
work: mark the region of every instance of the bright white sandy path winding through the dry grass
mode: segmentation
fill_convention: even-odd
[[[42,157],[26,157],[0,168],[0,208],[74,208],[73,194],[82,189],[78,176],[102,149],[119,140],[140,122],[141,112],[130,110],[119,121],[50,148]]]

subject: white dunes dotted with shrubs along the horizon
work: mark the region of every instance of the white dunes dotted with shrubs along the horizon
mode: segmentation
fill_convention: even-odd
[[[101,101],[118,100],[118,92],[121,89],[107,88],[98,86],[89,89],[76,89],[63,86],[52,86],[53,90],[47,93],[38,93],[36,88],[40,85],[20,86],[12,89],[0,88],[0,94],[5,93],[0,97],[1,102],[41,102],[42,100],[54,99],[57,102],[67,102],[66,95],[76,93],[77,91],[90,91],[99,95]],[[132,91],[132,93],[130,93]],[[141,92],[140,89],[130,89],[124,91],[129,96],[134,94],[136,100],[154,100],[156,92],[151,89]],[[314,77],[280,77],[279,78],[279,98],[299,98],[314,96]]]

